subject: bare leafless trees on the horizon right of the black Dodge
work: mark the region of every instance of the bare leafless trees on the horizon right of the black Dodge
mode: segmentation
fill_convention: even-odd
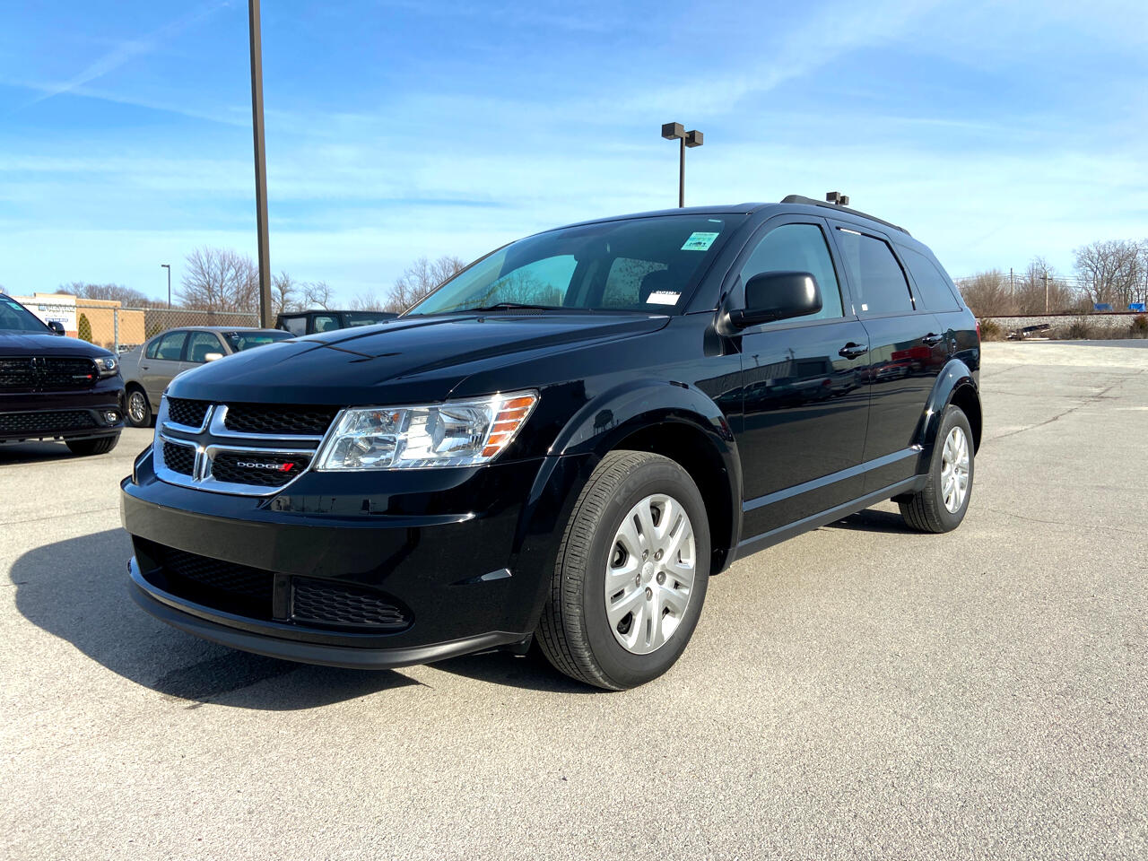
[[[1148,239],[1101,240],[1077,248],[1073,258],[1071,279],[1033,257],[1021,273],[991,269],[959,279],[957,286],[978,317],[1042,315],[1046,307],[1050,313],[1084,313],[1100,303],[1122,311],[1148,298]]]

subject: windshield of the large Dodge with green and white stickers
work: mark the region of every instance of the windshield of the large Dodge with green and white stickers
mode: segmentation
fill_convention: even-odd
[[[744,216],[653,216],[541,233],[512,242],[408,315],[497,308],[681,312]]]

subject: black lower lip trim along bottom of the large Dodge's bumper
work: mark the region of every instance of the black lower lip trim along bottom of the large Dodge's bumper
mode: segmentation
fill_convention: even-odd
[[[405,649],[364,649],[360,646],[336,646],[319,643],[303,643],[293,639],[281,639],[263,634],[231,628],[225,625],[208,621],[200,616],[184,613],[153,597],[135,579],[127,585],[132,599],[148,614],[173,628],[179,628],[197,637],[214,643],[254,652],[269,658],[298,661],[301,664],[319,664],[325,667],[347,667],[349,669],[393,669],[410,667],[416,664],[457,658],[471,652],[481,652],[511,643],[519,643],[527,634],[510,631],[487,631],[448,643],[409,646]]]

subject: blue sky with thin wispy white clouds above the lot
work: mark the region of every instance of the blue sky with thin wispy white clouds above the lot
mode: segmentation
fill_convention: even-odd
[[[419,255],[821,196],[954,276],[1148,236],[1142,2],[264,0],[271,261],[344,298]],[[165,290],[255,255],[247,5],[0,7],[0,284]]]

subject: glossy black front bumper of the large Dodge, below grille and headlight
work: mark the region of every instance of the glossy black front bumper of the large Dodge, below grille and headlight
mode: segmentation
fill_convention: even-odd
[[[397,667],[520,642],[536,625],[541,581],[549,579],[549,569],[522,565],[518,552],[540,464],[433,476],[308,474],[266,498],[168,484],[145,452],[121,486],[134,548],[130,589],[145,611],[177,628],[312,664]],[[400,492],[419,482],[420,492]],[[185,565],[174,575],[172,554]],[[258,595],[232,600],[203,583],[189,585],[184,574],[202,573],[194,560],[211,577],[220,575],[219,564],[223,576],[231,566]],[[267,591],[259,577],[269,579]],[[301,618],[298,589],[316,583],[336,598],[377,596],[401,608],[404,622]]]

